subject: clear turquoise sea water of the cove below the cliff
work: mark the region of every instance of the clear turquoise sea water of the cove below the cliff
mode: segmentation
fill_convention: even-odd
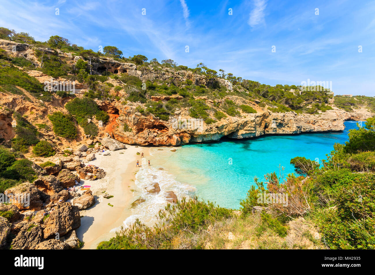
[[[326,159],[334,143],[345,143],[349,129],[357,122],[346,121],[342,132],[308,133],[298,135],[269,135],[246,140],[221,140],[217,143],[192,144],[153,151],[153,163],[164,163],[166,171],[181,184],[196,187],[195,195],[205,201],[215,201],[222,207],[239,208],[254,177],[284,166],[284,176],[294,172],[290,159],[305,156],[311,160]],[[160,150],[160,149],[159,149]],[[156,152],[160,152],[159,154]],[[154,166],[155,167],[155,166]],[[161,167],[161,166],[160,166]],[[192,194],[191,194],[192,195]]]

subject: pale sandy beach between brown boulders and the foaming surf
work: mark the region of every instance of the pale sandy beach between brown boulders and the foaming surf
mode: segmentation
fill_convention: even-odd
[[[80,212],[81,227],[77,229],[77,236],[84,242],[82,249],[96,249],[100,242],[114,237],[115,232],[110,231],[122,226],[123,221],[131,215],[135,173],[139,169],[135,167],[136,161],[139,160],[140,165],[147,165],[145,159],[149,156],[150,148],[131,145],[126,147],[127,149],[107,151],[110,156],[95,154],[96,159],[88,163],[104,169],[107,175],[100,180],[81,181],[82,185],[91,186],[96,200],[93,207]],[[137,152],[143,152],[145,158],[141,159],[141,156],[136,155]],[[103,198],[104,192],[113,195],[113,198]]]

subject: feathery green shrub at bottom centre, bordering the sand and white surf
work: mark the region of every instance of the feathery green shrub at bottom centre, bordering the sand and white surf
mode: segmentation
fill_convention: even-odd
[[[160,210],[158,222],[148,227],[138,219],[129,229],[116,233],[116,237],[101,242],[98,249],[165,249],[173,247],[173,239],[181,232],[194,234],[207,228],[209,224],[222,221],[232,216],[232,210],[221,208],[212,202],[185,199],[174,205],[168,204]],[[168,226],[165,226],[168,224]],[[193,248],[202,248],[197,243]]]

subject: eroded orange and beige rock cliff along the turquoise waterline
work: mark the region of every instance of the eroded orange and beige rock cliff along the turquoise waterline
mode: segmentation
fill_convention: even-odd
[[[179,146],[187,143],[204,143],[229,138],[251,138],[268,134],[299,134],[304,132],[326,132],[344,130],[345,120],[365,120],[373,114],[367,110],[347,112],[336,109],[321,114],[273,113],[263,111],[245,117],[226,117],[211,125],[176,112],[168,121],[153,115],[144,116],[135,106],[115,106],[119,116],[115,119],[118,127],[109,134],[127,144]],[[181,122],[180,122],[181,121]],[[124,132],[124,125],[131,132]],[[177,126],[177,127],[176,127]]]

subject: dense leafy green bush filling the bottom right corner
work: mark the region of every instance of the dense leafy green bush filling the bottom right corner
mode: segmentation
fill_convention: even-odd
[[[372,176],[371,176],[372,177]],[[316,222],[331,249],[375,248],[375,181],[369,175],[332,190],[337,210],[322,210]]]

